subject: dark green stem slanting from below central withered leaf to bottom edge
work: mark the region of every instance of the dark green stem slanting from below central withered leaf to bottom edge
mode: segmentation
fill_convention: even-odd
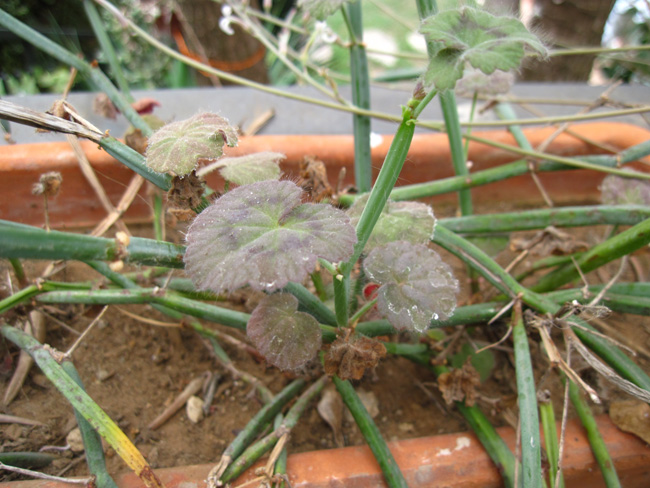
[[[345,405],[350,410],[352,417],[354,417],[354,421],[359,426],[359,430],[361,430],[363,437],[366,439],[370,450],[375,455],[386,478],[386,484],[390,488],[407,488],[408,484],[404,479],[404,475],[395,462],[395,458],[393,458],[393,455],[388,449],[386,441],[381,436],[377,425],[354,391],[352,384],[349,381],[341,380],[338,376],[334,376],[334,384],[341,394]]]

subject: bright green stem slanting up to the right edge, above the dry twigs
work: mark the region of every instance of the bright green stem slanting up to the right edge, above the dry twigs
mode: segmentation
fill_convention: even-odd
[[[536,292],[555,290],[583,274],[646,246],[650,243],[650,218],[592,247],[578,259],[553,271],[531,287]]]

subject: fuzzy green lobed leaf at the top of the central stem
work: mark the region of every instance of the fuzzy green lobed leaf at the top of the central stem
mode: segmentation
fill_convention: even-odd
[[[467,6],[424,19],[420,33],[435,48],[424,82],[437,90],[453,88],[467,64],[489,75],[518,68],[527,54],[547,55],[546,47],[519,20]]]

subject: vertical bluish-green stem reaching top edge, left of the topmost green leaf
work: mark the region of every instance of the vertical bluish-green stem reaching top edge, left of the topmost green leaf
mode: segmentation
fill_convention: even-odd
[[[350,75],[352,76],[352,102],[359,108],[370,110],[370,78],[368,59],[363,44],[363,19],[361,0],[354,0],[343,7],[347,15],[350,34]],[[361,193],[372,187],[372,163],[370,159],[370,117],[354,114],[354,181]]]

